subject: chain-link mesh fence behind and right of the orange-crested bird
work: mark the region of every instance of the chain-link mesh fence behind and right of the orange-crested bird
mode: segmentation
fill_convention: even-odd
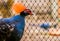
[[[17,0],[17,2],[24,4],[34,14],[25,18],[26,25],[21,41],[60,41],[59,0]],[[49,23],[50,28],[41,27],[43,23]]]

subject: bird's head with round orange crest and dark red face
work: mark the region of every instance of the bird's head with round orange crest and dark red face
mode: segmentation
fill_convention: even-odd
[[[31,10],[27,9],[21,3],[15,3],[15,4],[13,4],[12,9],[16,12],[16,14],[20,14],[21,16],[32,15]]]

